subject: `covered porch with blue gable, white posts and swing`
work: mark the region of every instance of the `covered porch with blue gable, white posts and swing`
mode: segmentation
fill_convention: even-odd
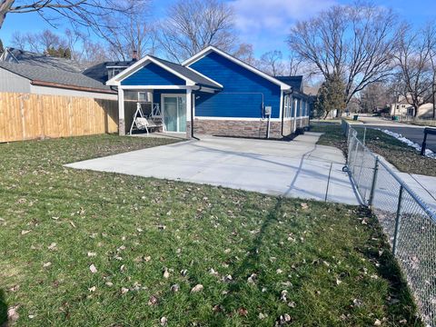
[[[106,84],[118,90],[120,135],[135,129],[193,137],[195,95],[223,89],[202,74],[151,55],[133,64]],[[127,109],[127,110],[126,110]]]

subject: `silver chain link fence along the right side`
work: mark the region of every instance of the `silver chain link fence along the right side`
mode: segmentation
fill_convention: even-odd
[[[363,204],[372,208],[421,311],[436,326],[436,213],[342,120],[348,138],[347,169]]]

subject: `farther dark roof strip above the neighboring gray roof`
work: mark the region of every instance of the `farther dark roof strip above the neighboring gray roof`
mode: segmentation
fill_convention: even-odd
[[[60,69],[67,72],[80,73],[85,69],[83,64],[66,58],[58,58],[47,54],[35,54],[30,51],[8,47],[0,56],[0,62],[14,64],[32,64],[39,67]]]

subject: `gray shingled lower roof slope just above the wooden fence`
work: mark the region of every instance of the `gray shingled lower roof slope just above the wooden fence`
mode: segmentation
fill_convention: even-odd
[[[114,93],[109,86],[95,81],[93,78],[85,76],[82,73],[69,72],[56,68],[47,68],[40,65],[15,64],[1,61],[0,68],[25,77],[35,85]]]

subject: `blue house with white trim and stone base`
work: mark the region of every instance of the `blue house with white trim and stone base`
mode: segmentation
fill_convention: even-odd
[[[282,138],[309,124],[301,78],[265,74],[213,46],[183,64],[147,55],[106,84],[118,89],[120,134],[124,103],[135,100],[149,105],[163,132],[188,137]]]

